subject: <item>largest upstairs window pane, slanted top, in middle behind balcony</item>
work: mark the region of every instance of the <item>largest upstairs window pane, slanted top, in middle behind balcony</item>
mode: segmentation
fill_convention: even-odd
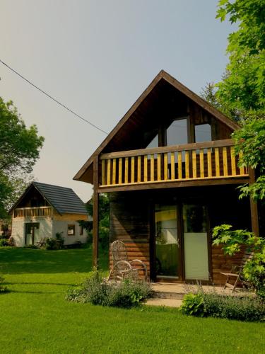
[[[187,143],[187,118],[173,120],[173,122],[167,128],[167,146]]]

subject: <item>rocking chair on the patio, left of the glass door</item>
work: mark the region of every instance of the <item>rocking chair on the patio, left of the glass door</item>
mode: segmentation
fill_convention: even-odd
[[[144,271],[144,279],[147,279],[146,265],[139,259],[129,261],[126,246],[122,241],[117,240],[112,242],[110,245],[110,251],[112,253],[113,266],[110,270],[110,275],[108,276],[107,281],[110,280],[110,278],[114,278],[114,280],[122,280],[124,278],[137,280],[139,279],[140,270]],[[136,267],[136,264],[140,264],[140,266]]]

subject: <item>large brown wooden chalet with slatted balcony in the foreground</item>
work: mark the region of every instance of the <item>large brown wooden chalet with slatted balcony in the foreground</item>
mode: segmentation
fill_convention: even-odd
[[[254,181],[237,167],[230,136],[238,128],[161,71],[74,177],[94,186],[94,265],[98,195],[110,193],[110,242],[124,241],[151,280],[224,282],[220,271],[240,256],[213,247],[211,229],[259,232],[257,205],[238,200],[237,186]]]

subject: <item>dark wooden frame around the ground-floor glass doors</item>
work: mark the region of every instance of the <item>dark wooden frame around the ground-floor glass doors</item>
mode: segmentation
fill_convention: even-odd
[[[174,198],[175,199],[175,198]],[[158,281],[170,281],[170,282],[185,282],[185,264],[184,264],[184,232],[183,232],[183,205],[184,204],[194,204],[194,205],[204,205],[206,207],[206,233],[207,233],[207,247],[208,247],[208,280],[200,280],[202,284],[209,284],[213,279],[213,268],[212,268],[212,249],[211,249],[211,227],[208,204],[202,202],[201,200],[186,200],[182,198],[181,200],[172,200],[168,202],[168,205],[176,205],[177,207],[177,235],[179,239],[179,276],[175,277],[157,277],[155,273],[155,204],[164,203],[165,200],[159,198],[158,200],[152,202],[149,205],[150,210],[150,278],[151,280]],[[189,279],[189,282],[195,282],[196,279]]]

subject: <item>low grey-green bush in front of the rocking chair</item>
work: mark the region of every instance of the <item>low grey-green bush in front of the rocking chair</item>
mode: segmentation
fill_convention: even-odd
[[[143,299],[151,296],[151,286],[146,282],[124,280],[119,283],[105,282],[95,271],[83,287],[70,288],[66,299],[73,302],[90,302],[94,305],[110,307],[136,307]]]

